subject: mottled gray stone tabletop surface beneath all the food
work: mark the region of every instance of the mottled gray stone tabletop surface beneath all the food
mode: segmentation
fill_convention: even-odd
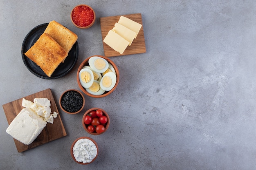
[[[77,29],[70,12],[94,8],[97,21]],[[253,170],[256,169],[256,2],[252,0],[78,0],[0,2],[0,105],[51,88],[56,101],[75,88],[76,71],[104,55],[99,18],[141,13],[146,53],[111,57],[120,72],[108,97],[85,96],[85,112],[105,109],[110,128],[89,135],[83,113],[60,111],[67,136],[18,153],[0,108],[0,169]],[[66,76],[46,80],[22,62],[21,45],[39,24],[56,20],[79,36],[79,59]],[[72,142],[92,137],[94,163],[70,156]]]

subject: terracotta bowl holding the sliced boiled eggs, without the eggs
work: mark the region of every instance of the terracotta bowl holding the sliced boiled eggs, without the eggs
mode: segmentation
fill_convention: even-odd
[[[90,96],[90,97],[95,97],[95,98],[100,98],[100,97],[106,97],[107,95],[110,95],[116,88],[117,88],[117,85],[118,85],[118,82],[119,82],[119,71],[118,71],[118,68],[116,66],[116,64],[114,62],[112,62],[108,57],[104,57],[102,55],[95,55],[97,57],[102,57],[103,59],[107,60],[108,63],[110,63],[113,68],[115,69],[115,72],[116,72],[116,77],[117,77],[117,82],[115,84],[115,86],[110,90],[110,91],[105,91],[105,93],[103,93],[102,95],[92,95],[91,93],[88,93],[88,91],[85,90],[85,88],[81,85],[81,82],[79,80],[79,72],[81,71],[81,69],[84,67],[84,66],[89,66],[88,64],[88,61],[91,57],[94,57],[94,56],[91,56],[91,57],[88,57],[87,59],[85,59],[79,66],[78,68],[78,71],[77,71],[77,74],[76,74],[76,80],[77,80],[77,83],[78,83],[78,86],[79,88],[81,89],[81,91],[83,91],[83,93],[85,93],[86,95]]]

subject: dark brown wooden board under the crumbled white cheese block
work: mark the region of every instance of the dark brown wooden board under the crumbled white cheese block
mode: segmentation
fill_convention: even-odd
[[[50,88],[40,91],[38,93],[34,93],[32,95],[22,97],[30,101],[34,101],[34,98],[47,98],[51,101],[51,110],[52,113],[55,111],[58,113],[57,117],[54,119],[54,123],[47,123],[43,131],[38,135],[38,137],[29,145],[25,145],[21,143],[20,141],[14,139],[14,143],[16,145],[16,148],[18,152],[23,152],[26,150],[29,150],[31,148],[35,148],[36,146],[43,145],[49,141],[53,141],[55,139],[67,136],[67,133],[65,131],[65,128],[63,126],[61,116],[58,112],[58,108],[56,106],[54,97],[52,95],[52,91]],[[13,102],[9,102],[7,104],[2,105],[4,108],[4,113],[7,118],[8,124],[11,124],[11,121],[20,113],[20,110],[22,110],[22,98],[17,99]]]

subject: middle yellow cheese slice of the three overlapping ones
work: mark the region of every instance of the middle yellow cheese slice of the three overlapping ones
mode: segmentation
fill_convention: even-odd
[[[129,46],[132,44],[132,41],[136,36],[136,33],[134,31],[126,28],[125,26],[119,23],[115,23],[113,31],[115,31],[115,33],[126,39],[129,42]]]

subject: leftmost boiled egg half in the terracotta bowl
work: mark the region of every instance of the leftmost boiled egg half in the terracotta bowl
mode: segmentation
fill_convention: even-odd
[[[84,88],[89,88],[93,83],[93,73],[89,68],[82,68],[79,72],[79,80]]]

